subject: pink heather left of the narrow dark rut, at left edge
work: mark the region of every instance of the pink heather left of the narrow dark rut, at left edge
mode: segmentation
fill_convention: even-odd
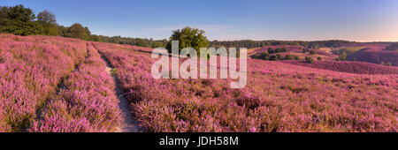
[[[0,131],[21,131],[87,54],[80,40],[0,34]]]

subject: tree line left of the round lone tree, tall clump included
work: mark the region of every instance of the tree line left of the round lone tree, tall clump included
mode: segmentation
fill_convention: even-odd
[[[0,33],[63,36],[87,41],[103,41],[151,48],[164,48],[168,42],[167,40],[154,41],[153,39],[91,34],[87,26],[78,23],[72,26],[60,26],[57,24],[56,16],[50,11],[42,11],[36,16],[34,11],[25,8],[22,4],[0,7]]]

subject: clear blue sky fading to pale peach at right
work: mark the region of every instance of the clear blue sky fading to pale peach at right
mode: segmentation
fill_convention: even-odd
[[[398,41],[397,0],[0,0],[15,4],[110,36],[164,39],[194,26],[210,40]]]

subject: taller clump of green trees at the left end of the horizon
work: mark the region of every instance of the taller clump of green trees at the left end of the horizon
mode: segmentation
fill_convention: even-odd
[[[22,4],[0,8],[0,33],[16,35],[60,35],[65,37],[90,40],[88,27],[80,24],[65,27],[57,24],[57,19],[50,11],[37,14]]]

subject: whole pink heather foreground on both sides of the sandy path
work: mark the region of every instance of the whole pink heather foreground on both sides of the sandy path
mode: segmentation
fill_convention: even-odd
[[[248,84],[153,79],[151,49],[0,35],[0,131],[116,131],[112,70],[145,131],[397,131],[398,75],[248,59]]]

